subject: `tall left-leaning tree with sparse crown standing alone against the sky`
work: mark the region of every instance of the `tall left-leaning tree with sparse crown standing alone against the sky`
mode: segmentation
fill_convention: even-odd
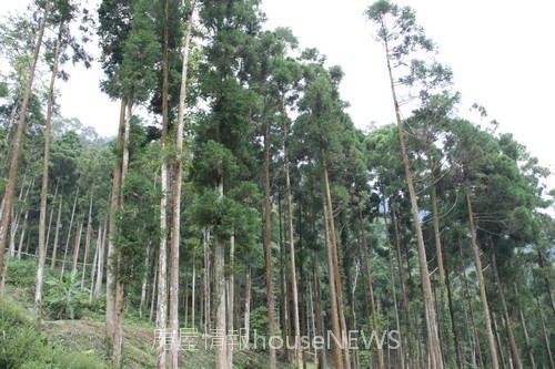
[[[415,89],[418,95],[430,93],[433,88],[442,86],[451,79],[448,70],[442,65],[418,60],[417,52],[433,51],[434,45],[424,34],[422,27],[415,22],[415,13],[410,7],[400,8],[389,0],[380,0],[373,3],[366,11],[370,20],[379,27],[376,39],[382,42],[385,50],[387,73],[393,96],[395,120],[397,123],[401,154],[405,167],[405,176],[411,198],[414,228],[417,238],[418,265],[421,275],[421,287],[424,301],[424,318],[426,321],[427,349],[430,353],[430,366],[433,369],[443,368],[443,358],[438,336],[437,318],[432,296],[430,271],[427,269],[427,257],[422,235],[420,208],[414,188],[413,172],[408,160],[405,144],[403,120],[401,117],[401,102],[397,91],[401,85]],[[397,69],[397,66],[404,66]],[[394,71],[400,71],[395,76]],[[414,92],[413,92],[414,93]]]

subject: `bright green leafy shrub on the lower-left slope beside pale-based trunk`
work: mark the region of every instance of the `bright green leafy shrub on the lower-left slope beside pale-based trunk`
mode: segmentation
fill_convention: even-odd
[[[81,289],[81,279],[78,269],[64,274],[62,279],[47,279],[48,288],[44,294],[44,306],[50,316],[56,319],[77,319],[82,315],[82,309],[89,306],[89,294]]]

